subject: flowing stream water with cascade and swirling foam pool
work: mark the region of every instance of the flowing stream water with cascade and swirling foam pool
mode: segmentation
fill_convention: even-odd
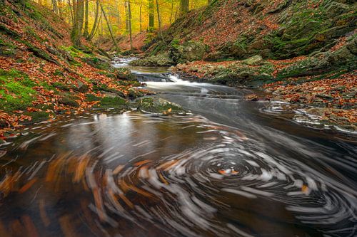
[[[298,108],[249,90],[131,69],[191,114],[29,127],[0,147],[0,236],[357,235],[354,135],[302,126]]]

